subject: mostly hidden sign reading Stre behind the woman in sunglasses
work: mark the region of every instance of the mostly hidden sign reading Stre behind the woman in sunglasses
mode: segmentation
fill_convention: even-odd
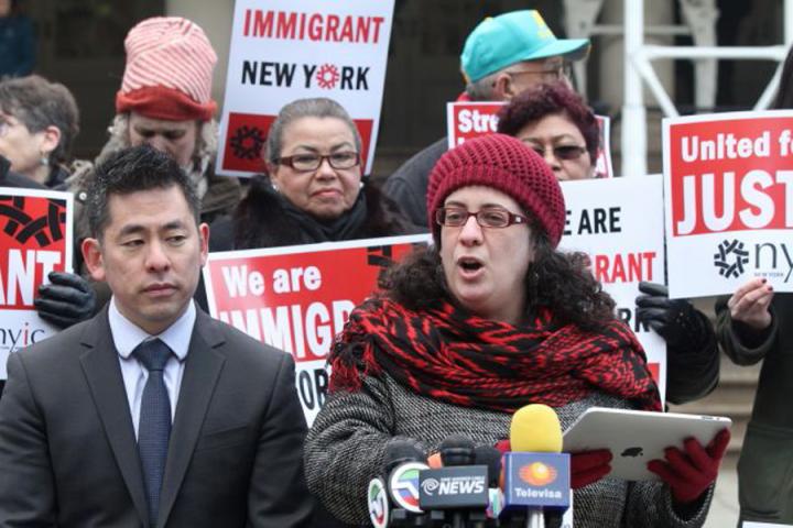
[[[466,140],[492,134],[498,129],[498,112],[506,102],[465,101],[446,103],[446,136],[448,147],[454,148]],[[613,176],[611,165],[611,120],[595,116],[600,128],[600,148],[595,161],[595,178]]]

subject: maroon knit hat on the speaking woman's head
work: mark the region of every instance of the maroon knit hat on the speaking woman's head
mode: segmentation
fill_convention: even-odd
[[[430,173],[427,218],[437,243],[435,211],[448,195],[471,185],[492,187],[514,199],[556,248],[565,224],[562,188],[545,160],[519,140],[488,134],[446,152]]]

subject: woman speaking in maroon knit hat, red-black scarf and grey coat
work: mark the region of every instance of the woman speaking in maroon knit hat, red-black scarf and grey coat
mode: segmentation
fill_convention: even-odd
[[[593,406],[661,409],[585,256],[556,250],[564,198],[542,157],[502,134],[467,141],[433,168],[427,211],[434,248],[351,314],[306,441],[309,488],[347,522],[368,521],[367,485],[394,438],[427,453],[452,433],[493,444],[528,404],[554,407],[563,428]],[[724,440],[675,450],[666,482],[602,479],[608,455],[574,455],[576,528],[702,526]]]

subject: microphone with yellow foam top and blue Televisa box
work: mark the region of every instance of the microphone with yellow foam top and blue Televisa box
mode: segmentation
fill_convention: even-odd
[[[520,408],[512,416],[510,447],[503,458],[502,517],[526,515],[528,528],[544,528],[543,512],[569,507],[569,455],[561,453],[556,411],[541,404]]]

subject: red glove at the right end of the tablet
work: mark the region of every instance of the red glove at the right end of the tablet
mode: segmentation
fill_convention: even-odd
[[[666,462],[651,460],[648,470],[669,484],[675,501],[692,503],[716,481],[729,439],[727,429],[720,430],[707,448],[703,448],[695,438],[687,438],[684,442],[685,453],[677,448],[666,448]]]

